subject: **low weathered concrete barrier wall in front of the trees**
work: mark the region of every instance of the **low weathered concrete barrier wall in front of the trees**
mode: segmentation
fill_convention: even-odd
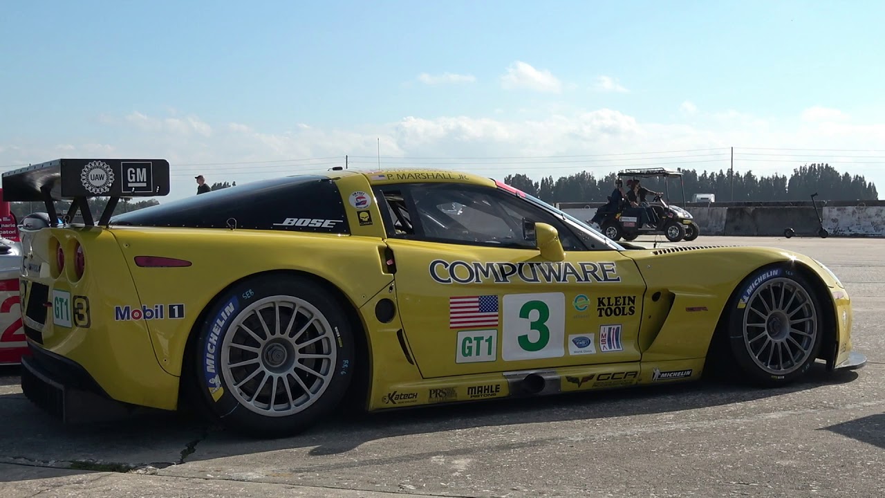
[[[736,203],[735,203],[736,204]],[[781,237],[787,228],[797,236],[817,236],[818,216],[811,203],[794,206],[687,206],[701,236]],[[784,203],[786,204],[786,203]],[[871,203],[880,204],[880,203]],[[590,207],[588,207],[590,206]],[[579,220],[589,222],[596,206],[562,206]],[[824,228],[831,237],[885,237],[885,206],[818,206]]]

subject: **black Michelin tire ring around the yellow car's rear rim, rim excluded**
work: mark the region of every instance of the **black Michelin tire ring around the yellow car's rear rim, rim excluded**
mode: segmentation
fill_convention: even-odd
[[[335,375],[319,400],[289,416],[261,416],[242,406],[231,393],[222,372],[221,345],[232,333],[231,324],[252,303],[281,295],[305,300],[319,309],[335,335]],[[319,284],[298,276],[262,276],[235,284],[219,295],[205,315],[196,341],[196,385],[208,408],[222,423],[256,435],[286,435],[304,429],[335,409],[346,393],[354,371],[355,341],[344,310]]]

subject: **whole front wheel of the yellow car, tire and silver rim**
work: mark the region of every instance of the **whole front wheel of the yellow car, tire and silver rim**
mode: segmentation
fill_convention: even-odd
[[[811,283],[785,265],[760,268],[729,301],[728,337],[743,373],[759,385],[804,376],[820,351],[823,307]]]

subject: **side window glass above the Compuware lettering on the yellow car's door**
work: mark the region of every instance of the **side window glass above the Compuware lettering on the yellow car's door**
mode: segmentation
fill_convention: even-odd
[[[381,187],[376,198],[387,201],[389,237],[467,245],[534,249],[523,236],[523,220],[550,223],[570,251],[586,247],[549,214],[496,189],[452,183],[419,183]]]

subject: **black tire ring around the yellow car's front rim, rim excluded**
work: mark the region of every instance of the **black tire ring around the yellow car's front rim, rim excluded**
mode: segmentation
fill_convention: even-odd
[[[749,298],[756,292],[759,286],[766,284],[774,278],[788,278],[801,286],[805,292],[811,297],[812,306],[817,316],[816,336],[812,345],[812,354],[808,355],[805,362],[797,370],[793,370],[786,375],[776,375],[766,370],[762,370],[747,351],[745,339],[743,337],[743,315],[746,307],[740,307],[742,300]],[[758,280],[758,282],[757,282]],[[755,284],[755,285],[754,285]],[[740,369],[750,380],[763,385],[784,385],[789,384],[799,377],[803,377],[820,354],[820,346],[823,342],[825,333],[823,328],[823,307],[820,297],[814,291],[814,287],[797,269],[790,268],[787,264],[767,265],[752,272],[750,276],[743,279],[741,284],[736,288],[735,295],[728,301],[728,344],[731,353]]]

